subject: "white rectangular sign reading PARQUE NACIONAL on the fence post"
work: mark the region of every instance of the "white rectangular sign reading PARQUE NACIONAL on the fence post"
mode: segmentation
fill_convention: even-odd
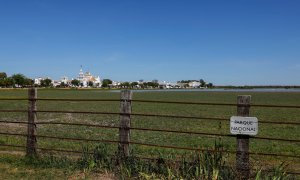
[[[230,133],[256,135],[258,132],[258,120],[256,117],[232,116],[230,118]]]

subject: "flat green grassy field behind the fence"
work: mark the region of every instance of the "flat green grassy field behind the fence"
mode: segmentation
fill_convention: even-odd
[[[134,92],[133,99],[139,100],[168,100],[168,101],[188,101],[188,102],[217,102],[217,103],[236,103],[238,95],[235,92]],[[248,93],[252,96],[253,104],[270,105],[300,105],[300,93]],[[85,98],[85,99],[119,99],[119,93],[112,93],[103,90],[54,90],[40,89],[40,98]],[[27,90],[0,90],[0,98],[27,97]],[[0,109],[27,109],[27,101],[0,101]],[[38,110],[72,110],[72,111],[100,111],[100,112],[119,112],[119,102],[57,102],[39,101]],[[229,132],[229,118],[236,115],[236,107],[227,106],[205,106],[205,105],[181,105],[181,104],[158,104],[158,103],[139,103],[133,102],[133,113],[151,113],[182,116],[202,116],[228,118],[228,122],[193,120],[193,119],[171,119],[157,117],[132,117],[133,127],[158,128],[170,130],[185,130],[207,133]],[[264,121],[278,122],[300,122],[299,109],[286,108],[258,108],[252,107],[251,116]],[[0,120],[27,121],[26,113],[1,113]],[[119,125],[117,115],[87,115],[87,114],[50,114],[39,113],[38,122],[77,122],[103,125]],[[21,124],[1,124],[0,132],[26,133],[26,126]],[[295,125],[276,125],[259,124],[258,136],[297,139],[299,140],[300,126]],[[38,125],[38,135],[51,135],[74,138],[108,139],[118,140],[117,129],[99,129],[84,126],[65,126],[65,125]],[[163,132],[137,131],[131,132],[131,140],[160,145],[174,145],[182,147],[211,148],[217,138],[174,134]],[[228,150],[235,150],[235,138],[221,138],[224,147]],[[0,144],[20,144],[25,145],[26,139],[23,137],[0,136]],[[60,148],[69,150],[82,150],[82,146],[94,146],[92,143],[69,142],[49,139],[38,139],[38,147]],[[178,156],[186,151],[172,149],[161,149],[145,146],[131,146],[133,152],[142,156]],[[0,147],[2,151],[12,150],[7,147]],[[117,145],[109,145],[111,152],[116,151]],[[22,149],[14,149],[22,151]],[[279,153],[289,155],[300,155],[299,143],[270,141],[270,140],[250,140],[250,151],[264,153]],[[234,157],[231,157],[233,159]],[[299,159],[251,156],[253,166],[265,166],[265,164],[276,164],[287,161],[293,164],[292,169],[299,170]]]

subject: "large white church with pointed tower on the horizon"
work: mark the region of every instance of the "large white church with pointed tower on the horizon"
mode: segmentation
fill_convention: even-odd
[[[82,70],[82,67],[80,68],[79,75],[77,77],[77,80],[80,81],[83,87],[89,87],[90,83],[92,83],[93,87],[101,87],[101,79],[99,76],[93,76],[90,72],[84,73]]]

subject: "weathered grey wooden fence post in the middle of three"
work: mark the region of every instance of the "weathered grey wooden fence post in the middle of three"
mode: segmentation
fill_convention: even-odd
[[[132,92],[130,90],[121,91],[120,128],[119,128],[119,136],[120,136],[119,154],[121,155],[121,157],[129,156],[131,99],[132,99]]]

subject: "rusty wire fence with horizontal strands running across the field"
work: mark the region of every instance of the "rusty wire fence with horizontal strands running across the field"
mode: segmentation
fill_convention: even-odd
[[[36,90],[35,90],[36,92]],[[29,96],[28,98],[0,98],[1,101],[28,101],[29,107],[28,110],[22,109],[1,109],[1,113],[28,113],[28,115],[33,118],[28,121],[16,121],[16,120],[0,120],[0,123],[13,123],[13,124],[24,124],[28,126],[28,129],[32,129],[32,132],[28,131],[27,134],[22,133],[11,133],[11,132],[0,132],[2,136],[18,136],[18,137],[26,137],[27,144],[26,145],[15,145],[8,143],[0,143],[0,146],[3,147],[14,147],[14,148],[24,148],[27,150],[30,148],[35,148],[33,152],[37,152],[37,150],[42,151],[57,151],[57,152],[65,152],[65,153],[77,153],[80,154],[82,151],[70,150],[70,149],[57,149],[57,148],[47,148],[47,147],[37,147],[36,144],[30,144],[28,139],[34,139],[31,143],[34,143],[36,139],[52,139],[52,140],[60,140],[60,141],[80,141],[80,142],[102,142],[102,143],[112,143],[118,144],[122,146],[121,149],[123,151],[128,151],[129,145],[138,145],[138,146],[146,146],[151,148],[164,148],[164,149],[174,149],[174,150],[187,150],[187,151],[198,151],[198,152],[222,152],[229,154],[238,154],[239,150],[219,150],[219,149],[209,149],[209,148],[195,148],[195,147],[187,147],[187,146],[175,146],[175,145],[166,145],[166,144],[155,144],[155,143],[145,143],[139,141],[130,140],[129,133],[133,133],[134,131],[141,132],[159,132],[159,133],[174,133],[174,134],[189,134],[189,135],[197,135],[201,137],[224,137],[230,139],[236,139],[237,135],[227,134],[227,133],[211,133],[204,131],[188,131],[188,130],[172,130],[172,129],[164,129],[164,128],[149,128],[149,127],[134,127],[130,126],[130,123],[126,122],[132,117],[155,117],[155,118],[166,118],[166,119],[178,119],[182,121],[184,119],[191,120],[201,120],[207,122],[225,122],[228,123],[230,117],[205,117],[205,116],[184,116],[184,115],[170,115],[170,114],[155,114],[155,113],[132,113],[131,112],[131,103],[159,103],[159,104],[181,104],[181,105],[199,105],[199,106],[230,106],[230,107],[240,107],[240,108],[287,108],[287,109],[299,109],[300,106],[296,105],[268,105],[268,104],[234,104],[234,103],[210,103],[210,102],[184,102],[184,101],[156,101],[156,100],[138,100],[131,98],[124,98],[121,96],[121,99],[71,99],[71,98],[37,98],[33,96]],[[37,110],[36,102],[37,101],[54,101],[54,102],[120,102],[120,112],[100,112],[100,111],[71,111],[71,110]],[[125,111],[122,111],[125,108]],[[126,109],[128,111],[126,111]],[[89,124],[89,123],[70,123],[70,122],[39,122],[37,121],[36,115],[38,113],[50,113],[50,114],[91,114],[91,115],[113,115],[120,117],[120,126],[112,126],[112,125],[102,125],[102,124]],[[29,117],[30,118],[30,117]],[[267,125],[293,125],[299,126],[300,122],[295,121],[266,121],[259,120],[259,123],[267,124]],[[124,125],[125,124],[125,125]],[[74,138],[74,137],[61,137],[61,136],[51,136],[51,135],[39,135],[36,133],[36,128],[39,125],[63,125],[63,126],[85,126],[90,128],[104,128],[104,129],[116,129],[119,130],[119,140],[112,139],[93,139],[93,138]],[[8,130],[9,131],[9,130]],[[125,137],[125,138],[124,138]],[[267,140],[274,142],[284,142],[288,144],[296,144],[296,147],[299,147],[300,140],[299,139],[290,139],[290,138],[276,138],[276,137],[268,137],[268,136],[247,136],[248,139],[254,140]],[[36,143],[36,142],[35,142]],[[251,147],[250,147],[251,148]],[[129,152],[128,152],[129,153]],[[247,156],[270,156],[270,157],[285,157],[292,158],[296,163],[299,163],[300,155],[293,153],[264,153],[264,152],[256,152],[256,151],[246,151]],[[126,154],[126,153],[125,153]],[[299,164],[298,164],[299,166]],[[297,172],[289,172],[291,174],[298,174]]]

